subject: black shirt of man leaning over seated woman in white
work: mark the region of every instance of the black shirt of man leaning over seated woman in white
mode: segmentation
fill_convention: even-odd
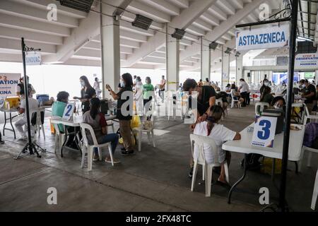
[[[212,86],[204,85],[201,87],[202,93],[201,97],[197,100],[198,112],[203,115],[210,107],[210,98],[216,96],[216,90]],[[189,97],[189,107],[192,108],[192,98]]]

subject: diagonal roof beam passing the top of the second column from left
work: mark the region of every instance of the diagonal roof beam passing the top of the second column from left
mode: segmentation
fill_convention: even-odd
[[[172,28],[186,29],[215,2],[216,0],[192,1],[191,6],[184,9],[179,16],[173,18],[169,25]],[[143,57],[148,56],[152,52],[155,52],[156,49],[160,49],[160,47],[163,47],[164,45],[165,34],[162,32],[156,32],[153,37],[149,37],[148,42],[141,44],[141,48],[134,52],[134,54],[131,55],[126,62],[124,62],[123,66],[129,67],[136,64],[138,61],[143,59]]]

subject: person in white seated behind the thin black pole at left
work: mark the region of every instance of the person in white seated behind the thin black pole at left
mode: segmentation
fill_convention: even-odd
[[[30,95],[31,94],[29,93],[29,96]],[[33,97],[29,97],[28,102],[29,102],[29,112],[33,112],[39,108],[39,102],[37,100],[35,100]],[[26,127],[26,124],[27,124],[27,117],[26,117],[26,114],[24,114],[25,113],[25,99],[21,100],[20,107],[18,107],[18,113],[23,114],[23,117],[21,119],[19,119],[18,121],[16,121],[16,124],[15,124],[16,129],[18,130],[18,132],[21,135],[19,140],[26,140],[27,139],[27,136],[26,136],[27,128],[25,128],[25,130],[23,129],[23,126]],[[30,117],[30,123],[31,123],[31,119],[33,118],[33,115],[30,115],[29,117]],[[31,129],[31,136],[34,136],[33,129]]]

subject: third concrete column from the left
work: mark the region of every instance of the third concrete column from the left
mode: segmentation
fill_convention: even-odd
[[[201,37],[201,79],[208,78],[211,81],[211,49],[208,47],[209,42]]]

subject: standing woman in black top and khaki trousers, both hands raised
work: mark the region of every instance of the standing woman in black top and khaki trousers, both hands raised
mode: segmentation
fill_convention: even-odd
[[[130,107],[133,106],[134,98],[131,98],[129,96],[126,97],[126,99],[122,99],[122,94],[126,91],[132,93],[132,87],[134,85],[132,76],[130,73],[124,73],[121,78],[121,90],[119,93],[114,93],[110,85],[106,85],[106,89],[110,92],[110,95],[114,98],[114,100],[117,100],[117,119],[119,119],[119,131],[122,135],[122,139],[124,141],[124,148],[122,148],[122,155],[131,155],[134,154],[133,144],[131,141],[131,127],[130,127],[130,120],[132,119],[132,115],[128,114],[124,116],[122,113],[122,105],[126,101],[131,102],[125,109],[128,112],[131,112]]]

